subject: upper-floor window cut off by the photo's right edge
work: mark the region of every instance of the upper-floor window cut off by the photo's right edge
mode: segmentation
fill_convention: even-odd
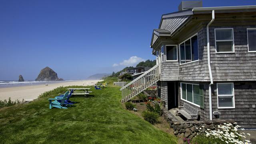
[[[248,52],[256,52],[256,28],[247,28]]]

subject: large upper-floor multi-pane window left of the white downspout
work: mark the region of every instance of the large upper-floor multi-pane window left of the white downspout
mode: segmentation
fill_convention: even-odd
[[[199,60],[197,34],[180,44],[180,64]]]

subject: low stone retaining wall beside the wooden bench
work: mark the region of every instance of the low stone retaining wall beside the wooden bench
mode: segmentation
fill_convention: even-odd
[[[168,110],[163,108],[163,116],[164,119],[170,124],[170,127],[173,128],[174,133],[179,138],[193,138],[198,133],[199,129],[201,128],[202,131],[206,129],[210,130],[217,130],[218,125],[222,125],[224,123],[232,123],[234,121],[226,121],[226,120],[187,120],[180,122],[178,121],[173,114],[171,114]]]

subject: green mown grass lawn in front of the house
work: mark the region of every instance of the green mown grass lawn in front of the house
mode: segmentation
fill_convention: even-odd
[[[119,87],[92,88],[92,97],[68,109],[49,109],[44,96],[0,109],[0,144],[175,144],[177,138],[124,110]]]

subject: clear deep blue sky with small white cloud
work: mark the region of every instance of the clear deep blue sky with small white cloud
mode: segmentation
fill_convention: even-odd
[[[153,60],[150,40],[180,0],[0,0],[0,80],[34,80],[46,66],[65,80]],[[256,0],[203,0],[204,7]]]

